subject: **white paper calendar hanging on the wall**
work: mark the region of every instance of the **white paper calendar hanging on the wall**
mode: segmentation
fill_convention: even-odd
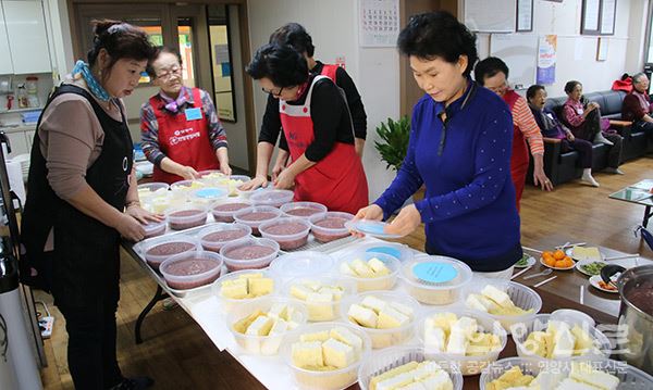
[[[399,0],[359,0],[359,45],[395,47],[399,35]]]

